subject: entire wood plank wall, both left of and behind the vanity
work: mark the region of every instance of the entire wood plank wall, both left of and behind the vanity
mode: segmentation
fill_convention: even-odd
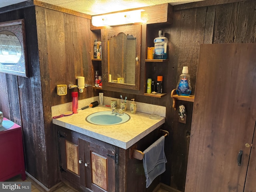
[[[166,76],[164,89],[167,96],[152,98],[126,94],[128,99],[166,106],[164,129],[170,132],[170,136],[165,144],[168,163],[161,178],[162,182],[180,191],[185,188],[193,103],[177,103],[185,104],[188,114],[186,124],[178,123],[178,111],[171,108],[170,92],[176,87],[183,66],[189,68],[194,92],[200,44],[256,41],[255,0],[203,7],[197,5],[192,4],[186,9],[174,6],[173,24],[159,26],[169,40],[169,62],[158,66]],[[5,117],[23,127],[26,170],[45,186],[51,187],[59,180],[56,176],[58,167],[51,106],[70,102],[73,91],[68,90],[66,96],[58,96],[56,85],[75,84],[76,76],[85,76],[86,83],[93,82],[90,58],[92,44],[97,37],[90,31],[88,19],[46,8],[30,7],[0,14],[0,22],[21,18],[25,18],[26,24],[30,76],[22,78],[0,73],[0,110]],[[120,97],[119,92],[102,92],[104,96]],[[98,91],[85,88],[79,99],[97,94]]]

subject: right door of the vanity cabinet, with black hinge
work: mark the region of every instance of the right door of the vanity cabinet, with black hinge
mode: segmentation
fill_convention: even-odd
[[[82,142],[83,148],[81,148]],[[88,142],[81,139],[79,146],[80,156],[84,155],[84,163],[80,166],[80,172],[85,172],[85,176],[81,175],[82,186],[94,192],[114,192],[115,166],[118,166],[110,157],[116,153],[114,146],[96,140]]]

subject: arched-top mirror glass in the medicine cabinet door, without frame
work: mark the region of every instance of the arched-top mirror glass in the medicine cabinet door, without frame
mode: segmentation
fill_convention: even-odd
[[[109,81],[135,85],[136,38],[121,32],[108,45]]]

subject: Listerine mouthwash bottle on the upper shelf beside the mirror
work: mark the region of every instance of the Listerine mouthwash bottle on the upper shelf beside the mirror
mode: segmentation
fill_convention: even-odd
[[[168,39],[163,36],[164,32],[162,30],[158,31],[158,37],[154,39],[155,53],[154,59],[167,59],[167,42]]]

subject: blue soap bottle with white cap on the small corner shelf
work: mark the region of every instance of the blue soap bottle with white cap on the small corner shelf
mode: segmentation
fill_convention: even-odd
[[[182,74],[180,75],[176,93],[178,95],[189,96],[191,94],[190,75],[188,74],[188,67],[183,67]]]

